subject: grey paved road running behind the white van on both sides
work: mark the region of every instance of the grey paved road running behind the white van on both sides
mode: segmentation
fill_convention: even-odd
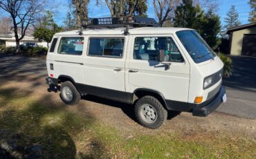
[[[256,58],[232,57],[233,74],[223,79],[226,86],[228,102],[221,105],[217,111],[256,119]],[[0,55],[0,78],[38,75],[46,76],[45,60],[37,58]]]

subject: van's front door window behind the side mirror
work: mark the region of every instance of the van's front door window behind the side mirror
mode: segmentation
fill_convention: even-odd
[[[160,50],[165,51],[165,62],[183,62],[183,57],[171,37],[136,37],[134,59],[157,60]]]

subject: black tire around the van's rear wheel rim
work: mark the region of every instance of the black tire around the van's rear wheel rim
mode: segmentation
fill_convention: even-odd
[[[73,97],[71,100],[66,100],[66,97],[64,96],[64,88],[69,88],[73,94]],[[77,88],[75,88],[74,84],[70,81],[63,82],[60,87],[60,98],[65,104],[68,105],[75,105],[81,100],[81,94],[77,91]]]

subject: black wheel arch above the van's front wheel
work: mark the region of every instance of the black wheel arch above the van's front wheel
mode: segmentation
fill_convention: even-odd
[[[144,97],[146,95],[151,95],[153,97],[156,97],[156,99],[159,100],[159,102],[161,102],[161,104],[163,104],[165,109],[167,109],[167,102],[166,102],[163,94],[156,90],[149,89],[149,88],[137,88],[133,93],[133,101],[132,102],[134,103],[134,102],[136,102],[136,100],[138,100],[141,97]]]

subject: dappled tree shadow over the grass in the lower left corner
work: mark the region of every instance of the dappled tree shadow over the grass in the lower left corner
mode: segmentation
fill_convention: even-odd
[[[0,158],[102,156],[105,148],[99,140],[90,140],[83,152],[77,151],[73,140],[80,132],[88,137],[93,115],[86,112],[86,117],[80,118],[66,111],[64,104],[54,102],[51,95],[32,100],[30,93],[19,93],[18,88],[0,89]]]

